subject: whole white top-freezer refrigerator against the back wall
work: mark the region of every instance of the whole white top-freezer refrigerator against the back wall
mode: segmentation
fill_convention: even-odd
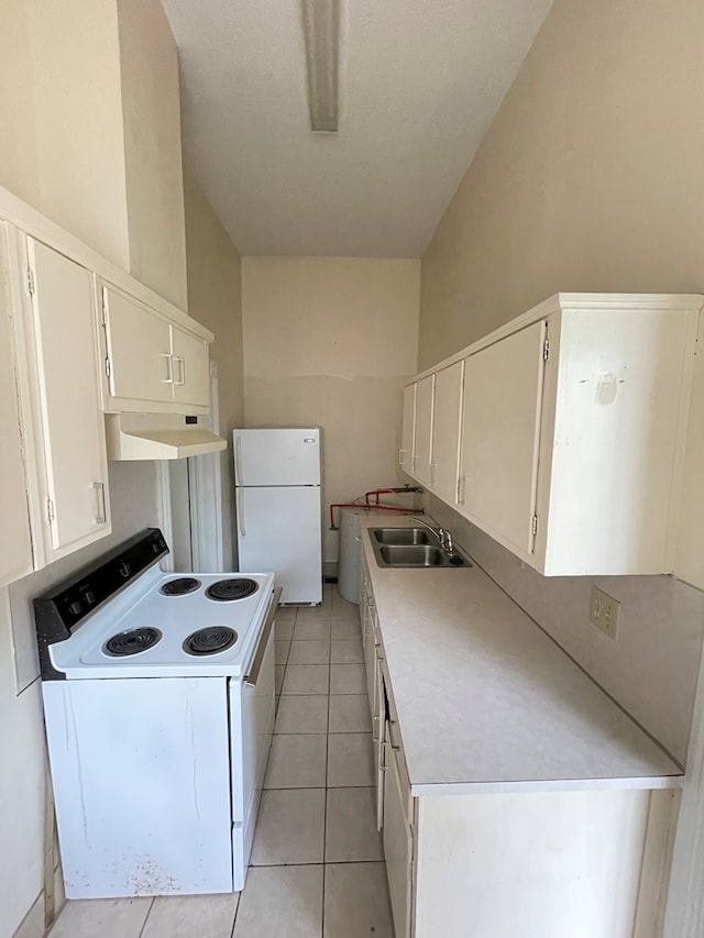
[[[233,439],[240,572],[273,570],[282,603],[321,603],[320,430]]]

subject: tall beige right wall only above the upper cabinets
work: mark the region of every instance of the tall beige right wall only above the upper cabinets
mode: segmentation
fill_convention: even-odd
[[[558,290],[704,288],[703,32],[557,0],[422,258],[421,368]]]

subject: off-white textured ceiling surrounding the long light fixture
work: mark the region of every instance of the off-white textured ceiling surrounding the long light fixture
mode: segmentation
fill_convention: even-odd
[[[185,157],[243,255],[418,257],[552,0],[341,0],[340,132],[298,0],[164,0]]]

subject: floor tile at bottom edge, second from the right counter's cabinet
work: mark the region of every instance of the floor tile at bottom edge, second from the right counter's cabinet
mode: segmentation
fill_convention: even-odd
[[[249,871],[232,938],[321,936],[322,867],[253,867]]]

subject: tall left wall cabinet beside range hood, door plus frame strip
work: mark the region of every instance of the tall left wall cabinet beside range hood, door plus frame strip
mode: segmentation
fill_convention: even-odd
[[[23,422],[33,459],[32,533],[37,565],[110,533],[92,275],[16,232],[22,296]]]

